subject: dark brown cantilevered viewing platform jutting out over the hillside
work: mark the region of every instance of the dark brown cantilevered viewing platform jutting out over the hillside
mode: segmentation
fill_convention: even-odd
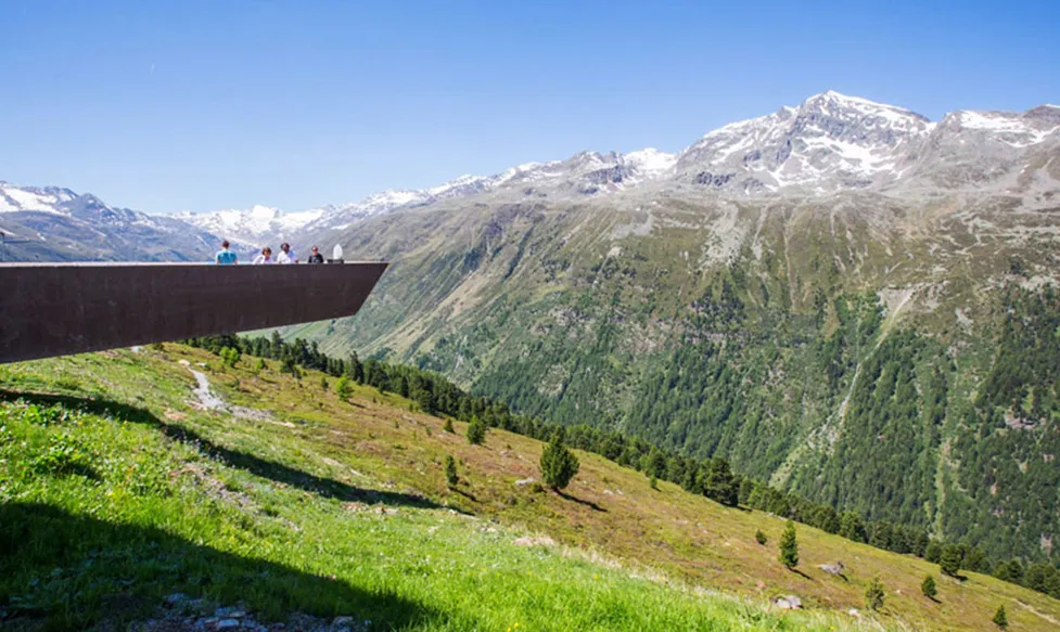
[[[0,363],[353,315],[386,266],[0,263]]]

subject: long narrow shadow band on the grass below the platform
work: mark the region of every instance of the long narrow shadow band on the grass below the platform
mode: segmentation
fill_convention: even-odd
[[[232,450],[218,446],[209,439],[200,436],[190,428],[167,424],[159,420],[149,410],[129,405],[119,401],[108,399],[90,399],[86,397],[74,397],[66,395],[52,395],[40,392],[20,392],[11,390],[0,390],[0,400],[16,401],[23,400],[27,403],[40,405],[61,404],[71,410],[79,410],[86,413],[112,416],[126,422],[144,424],[159,429],[170,439],[195,446],[201,452],[210,459],[221,461],[232,467],[245,469],[251,474],[267,478],[274,482],[288,485],[310,493],[325,498],[333,498],[345,502],[383,503],[394,506],[407,506],[419,508],[439,508],[440,505],[431,502],[429,499],[401,492],[385,490],[361,489],[346,482],[331,478],[323,478],[295,469],[282,463],[276,463],[260,456],[255,456],[240,450]]]

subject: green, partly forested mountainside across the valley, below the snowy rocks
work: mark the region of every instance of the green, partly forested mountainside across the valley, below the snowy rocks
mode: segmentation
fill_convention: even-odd
[[[624,199],[373,217],[334,237],[392,261],[365,308],[290,334],[993,560],[1060,564],[1056,372],[1006,370],[980,396],[1011,349],[1060,357],[1055,244],[1018,236],[1012,201]]]

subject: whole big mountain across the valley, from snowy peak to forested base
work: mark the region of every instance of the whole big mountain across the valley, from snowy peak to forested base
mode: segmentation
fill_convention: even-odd
[[[1058,114],[829,92],[651,169],[524,166],[312,232],[393,263],[355,320],[292,335],[1056,559]]]

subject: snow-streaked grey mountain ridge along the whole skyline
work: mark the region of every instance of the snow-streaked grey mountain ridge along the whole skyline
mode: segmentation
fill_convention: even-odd
[[[49,212],[72,218],[78,214],[69,205],[81,201],[87,209],[97,209],[101,220],[104,215],[124,216],[126,221],[148,224],[150,218],[169,218],[194,227],[205,241],[229,238],[251,249],[278,240],[307,240],[342,231],[395,209],[485,195],[511,202],[589,199],[634,190],[646,190],[649,195],[682,192],[726,198],[816,197],[854,190],[920,196],[930,190],[969,188],[1036,194],[1060,181],[1060,166],[1055,162],[1035,165],[1039,150],[1047,147],[1048,152],[1060,143],[1058,131],[1060,107],[1049,104],[1022,113],[958,109],[931,121],[905,107],[828,90],[796,106],[707,131],[676,153],[653,147],[627,153],[583,151],[565,159],[524,163],[488,176],[464,175],[425,189],[386,190],[357,202],[305,210],[255,205],[251,209],[137,216],[137,211],[108,206],[91,194],[3,183],[0,214]],[[12,223],[10,215],[8,219]],[[79,219],[89,221],[88,214],[81,212]],[[176,230],[177,225],[167,228]],[[10,225],[8,232],[18,233]],[[24,232],[33,235],[38,231]],[[210,254],[209,248],[189,249],[194,257]]]

